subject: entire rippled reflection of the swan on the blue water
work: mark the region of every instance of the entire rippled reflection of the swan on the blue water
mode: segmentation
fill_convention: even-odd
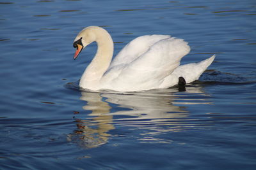
[[[86,101],[83,109],[92,113],[84,115],[83,119],[76,119],[77,130],[68,135],[68,139],[78,139],[79,145],[92,148],[107,143],[110,130],[128,126],[147,129],[141,134],[140,141],[166,142],[154,138],[152,134],[193,127],[186,105],[211,104],[201,88],[186,87],[186,92],[182,93],[177,93],[177,89],[123,94],[81,92],[80,99]],[[184,106],[175,105],[179,103]]]

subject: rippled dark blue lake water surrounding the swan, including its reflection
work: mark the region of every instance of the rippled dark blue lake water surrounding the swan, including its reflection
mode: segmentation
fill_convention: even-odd
[[[255,169],[255,19],[252,0],[0,0],[0,169]],[[182,64],[216,59],[183,92],[85,92],[97,46],[73,60],[72,43],[89,25],[115,54],[170,34]]]

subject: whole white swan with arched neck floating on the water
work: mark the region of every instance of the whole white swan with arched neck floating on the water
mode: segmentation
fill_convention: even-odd
[[[93,91],[131,92],[166,89],[180,81],[191,83],[215,57],[180,66],[180,60],[190,51],[186,41],[169,35],[145,35],[133,39],[112,60],[114,44],[110,34],[101,27],[90,26],[74,39],[74,59],[94,41],[97,53],[79,82],[79,87]]]

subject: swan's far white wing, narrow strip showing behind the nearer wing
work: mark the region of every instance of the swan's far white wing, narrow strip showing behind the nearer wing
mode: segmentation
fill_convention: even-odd
[[[115,59],[111,62],[109,69],[112,67],[129,64],[133,60],[137,59],[140,55],[147,52],[150,46],[154,45],[157,41],[161,39],[170,38],[168,35],[146,35],[140,36],[133,39],[116,55]]]

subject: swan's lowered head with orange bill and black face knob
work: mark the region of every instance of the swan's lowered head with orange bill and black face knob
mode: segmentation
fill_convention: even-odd
[[[74,40],[73,46],[76,48],[76,53],[74,55],[74,59],[77,58],[79,53],[85,48],[87,45],[90,45],[93,41],[96,41],[95,31],[98,28],[95,26],[90,26],[84,28],[81,32],[79,32]]]

